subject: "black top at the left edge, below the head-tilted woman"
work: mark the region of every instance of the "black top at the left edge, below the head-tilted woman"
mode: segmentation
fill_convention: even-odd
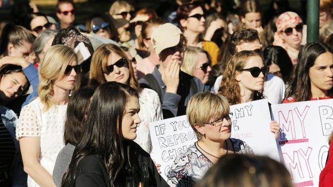
[[[15,150],[14,139],[0,120],[0,173],[10,170]]]

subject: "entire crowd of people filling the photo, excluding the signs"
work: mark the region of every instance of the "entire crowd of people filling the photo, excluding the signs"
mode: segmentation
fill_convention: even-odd
[[[16,6],[0,20],[0,186],[291,187],[282,163],[231,138],[230,106],[333,99],[332,0],[320,0],[311,43],[287,0],[267,11],[258,0],[115,1],[81,25],[72,0],[58,0],[58,21]],[[180,115],[198,141],[164,180],[149,124]],[[278,138],[279,123],[266,125]],[[333,183],[332,147],[321,187]]]

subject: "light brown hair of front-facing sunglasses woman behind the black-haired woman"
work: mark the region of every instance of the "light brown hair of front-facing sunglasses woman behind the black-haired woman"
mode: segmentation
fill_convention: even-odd
[[[89,75],[88,85],[96,86],[107,82],[107,80],[103,75],[102,69],[107,68],[108,61],[112,53],[115,53],[120,57],[126,59],[130,71],[129,86],[138,90],[139,82],[135,79],[132,62],[128,59],[126,53],[121,48],[119,48],[119,46],[110,43],[100,45],[97,48],[97,50],[94,52],[90,64],[90,75]]]

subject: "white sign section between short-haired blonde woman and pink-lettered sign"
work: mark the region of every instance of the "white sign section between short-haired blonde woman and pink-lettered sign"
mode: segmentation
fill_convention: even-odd
[[[270,113],[266,99],[230,106],[231,137],[241,139],[256,155],[279,159],[274,134],[269,130]]]

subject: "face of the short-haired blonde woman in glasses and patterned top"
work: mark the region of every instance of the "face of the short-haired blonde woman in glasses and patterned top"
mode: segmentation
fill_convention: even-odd
[[[221,116],[215,116],[215,118],[210,119],[209,122],[219,120]],[[209,123],[206,122],[206,123]],[[210,139],[213,142],[221,142],[224,141],[231,136],[231,119],[230,117],[224,116],[223,121],[216,122],[214,125],[205,124],[201,127],[204,131],[205,137]]]

